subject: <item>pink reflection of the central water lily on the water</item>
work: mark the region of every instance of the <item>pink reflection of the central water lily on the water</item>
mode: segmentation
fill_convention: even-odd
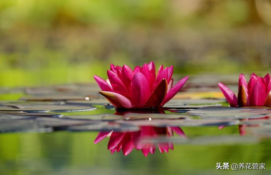
[[[146,142],[147,138],[158,138],[161,136],[170,138],[173,136],[173,131],[181,137],[185,137],[183,130],[180,127],[153,127],[153,126],[140,126],[139,131],[101,131],[96,137],[94,144],[100,142],[105,137],[110,137],[108,142],[108,150],[111,154],[119,152],[122,149],[123,154],[126,156],[135,148],[141,150],[145,157],[149,153],[154,154],[156,146],[161,153],[168,153],[168,150],[173,150],[173,143],[170,141],[159,142],[157,145]],[[144,143],[142,140],[144,139]]]

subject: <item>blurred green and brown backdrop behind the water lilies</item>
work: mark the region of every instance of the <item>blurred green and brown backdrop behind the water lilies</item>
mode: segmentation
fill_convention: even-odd
[[[1,0],[0,86],[93,82],[109,63],[270,71],[270,0]]]

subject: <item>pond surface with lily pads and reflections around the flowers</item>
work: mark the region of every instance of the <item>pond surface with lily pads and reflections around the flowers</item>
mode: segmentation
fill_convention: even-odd
[[[152,111],[116,111],[95,84],[2,88],[0,174],[270,174],[271,110],[196,79]]]

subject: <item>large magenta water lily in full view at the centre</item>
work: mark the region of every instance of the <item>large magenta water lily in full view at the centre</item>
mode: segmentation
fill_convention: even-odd
[[[184,86],[188,76],[173,86],[173,66],[161,65],[157,75],[153,62],[136,66],[110,65],[108,79],[94,75],[94,79],[102,89],[102,94],[116,108],[159,108],[172,99]]]

